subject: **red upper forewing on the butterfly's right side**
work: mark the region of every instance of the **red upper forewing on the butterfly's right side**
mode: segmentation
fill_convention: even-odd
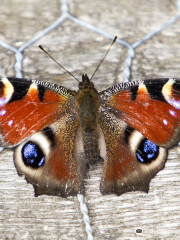
[[[180,80],[157,79],[113,86],[100,93],[102,106],[153,143],[179,141]]]

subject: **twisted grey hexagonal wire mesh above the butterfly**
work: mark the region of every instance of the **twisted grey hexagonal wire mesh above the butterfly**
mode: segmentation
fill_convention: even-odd
[[[130,45],[128,42],[123,41],[121,39],[117,39],[116,42],[124,47],[127,48],[127,58],[124,61],[124,71],[123,71],[123,82],[128,82],[130,75],[131,75],[131,65],[132,60],[135,57],[135,51],[134,49],[139,47],[141,44],[143,44],[145,41],[148,41],[153,36],[155,36],[157,33],[161,32],[164,28],[169,26],[170,24],[173,24],[179,17],[180,17],[180,0],[176,1],[177,6],[177,13],[166,23],[164,23],[161,26],[158,26],[154,31],[146,34],[144,37]],[[0,40],[0,45],[12,52],[15,53],[16,63],[15,63],[15,71],[16,71],[16,77],[22,77],[22,62],[23,62],[23,51],[37,42],[40,38],[45,36],[46,34],[50,33],[52,30],[57,28],[59,25],[61,25],[65,20],[70,20],[75,24],[78,24],[81,27],[85,27],[93,32],[96,32],[100,35],[103,35],[104,37],[113,40],[114,36],[109,34],[108,32],[105,32],[89,23],[86,23],[84,21],[79,20],[78,18],[72,16],[69,12],[69,6],[68,6],[68,0],[61,0],[61,16],[49,27],[43,29],[40,33],[35,35],[33,38],[31,38],[29,41],[27,41],[25,44],[23,44],[19,49],[16,49],[15,47],[9,45],[8,43],[5,43],[4,41]]]

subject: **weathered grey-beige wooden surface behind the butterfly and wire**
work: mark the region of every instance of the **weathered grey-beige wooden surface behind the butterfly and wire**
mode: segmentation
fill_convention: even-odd
[[[74,0],[70,12],[129,43],[142,38],[176,13],[168,0]],[[60,16],[60,2],[10,0],[0,2],[0,38],[15,47],[28,41]],[[179,77],[180,21],[136,49],[132,78]],[[91,76],[110,45],[103,36],[66,21],[38,43],[77,78]],[[77,89],[77,82],[33,44],[24,55],[24,77]],[[94,77],[98,90],[122,80],[124,47],[115,44]],[[0,75],[14,75],[14,54],[0,48]],[[169,151],[166,167],[151,181],[148,194],[132,192],[102,196],[100,162],[85,179],[85,202],[94,239],[180,239],[180,149]],[[135,234],[137,228],[143,234]],[[13,153],[3,151],[0,161],[0,239],[86,239],[76,197],[35,198],[33,187],[19,177]]]

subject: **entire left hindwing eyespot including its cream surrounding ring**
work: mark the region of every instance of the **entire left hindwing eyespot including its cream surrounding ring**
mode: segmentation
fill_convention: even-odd
[[[50,133],[50,128],[48,133]],[[52,151],[52,136],[48,137],[47,129],[37,132],[16,147],[14,152],[15,165],[20,175],[35,182],[47,167]]]

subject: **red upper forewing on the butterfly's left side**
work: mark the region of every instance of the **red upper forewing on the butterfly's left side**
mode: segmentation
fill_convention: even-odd
[[[74,92],[46,82],[18,78],[0,81],[0,143],[13,147],[69,111]],[[44,85],[41,85],[43,83]],[[68,91],[68,92],[67,92]]]

